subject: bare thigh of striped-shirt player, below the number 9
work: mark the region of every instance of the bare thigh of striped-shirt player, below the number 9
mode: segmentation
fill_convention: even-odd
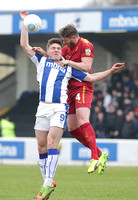
[[[51,126],[48,137],[47,137],[47,148],[58,148],[58,143],[63,135],[64,129],[57,127],[57,126]]]

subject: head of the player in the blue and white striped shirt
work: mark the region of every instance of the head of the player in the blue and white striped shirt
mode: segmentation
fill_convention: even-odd
[[[62,54],[62,41],[60,38],[51,38],[46,45],[47,55],[53,61],[59,61]]]

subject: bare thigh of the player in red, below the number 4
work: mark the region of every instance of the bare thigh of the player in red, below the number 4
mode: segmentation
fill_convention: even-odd
[[[87,107],[80,107],[80,108],[76,108],[76,119],[77,122],[79,124],[79,126],[81,126],[82,124],[89,122],[89,118],[90,118],[90,109]]]

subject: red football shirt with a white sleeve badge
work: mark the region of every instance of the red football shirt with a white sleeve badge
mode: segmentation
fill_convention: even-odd
[[[62,56],[66,60],[72,60],[74,62],[81,62],[81,58],[91,58],[94,57],[94,46],[92,43],[90,43],[87,39],[84,39],[82,37],[79,38],[79,41],[73,48],[68,48],[67,46],[64,46],[62,49]],[[92,69],[92,67],[91,67]],[[91,73],[91,69],[89,73]],[[89,82],[79,82],[75,79],[71,79],[69,81],[68,89],[76,88],[79,86],[88,86],[90,89],[93,88],[93,84]]]

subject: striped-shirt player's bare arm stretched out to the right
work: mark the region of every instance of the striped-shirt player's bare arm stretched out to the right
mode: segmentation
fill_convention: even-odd
[[[103,79],[107,78],[108,76],[118,72],[124,66],[125,66],[124,62],[123,63],[116,63],[109,70],[106,70],[106,71],[103,71],[103,72],[94,73],[94,74],[87,74],[87,76],[85,77],[85,79],[83,81],[96,82],[96,81],[103,80]]]

